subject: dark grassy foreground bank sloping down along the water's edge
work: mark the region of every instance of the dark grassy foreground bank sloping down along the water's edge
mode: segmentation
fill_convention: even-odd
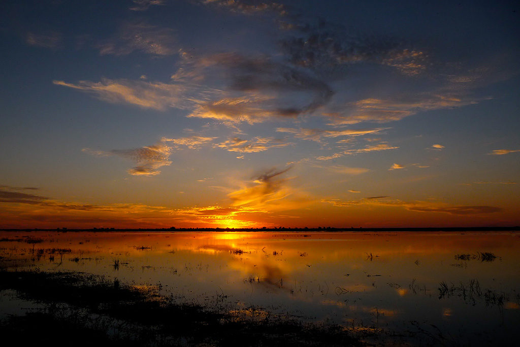
[[[0,289],[37,302],[38,309],[0,321],[0,336],[19,345],[349,346],[344,328],[272,317],[248,307],[229,310],[179,302],[160,288],[137,289],[84,273],[0,270]]]

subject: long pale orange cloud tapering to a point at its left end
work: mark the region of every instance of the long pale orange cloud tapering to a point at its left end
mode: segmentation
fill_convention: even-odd
[[[80,81],[77,84],[53,81],[56,85],[94,94],[114,104],[132,104],[142,108],[165,110],[168,107],[188,108],[187,87],[179,84],[131,80],[101,79],[101,82]]]

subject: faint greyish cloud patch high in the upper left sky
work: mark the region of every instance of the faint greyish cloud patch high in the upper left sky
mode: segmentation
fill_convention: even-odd
[[[177,53],[172,29],[147,23],[125,23],[118,33],[98,45],[100,55],[123,56],[143,52],[154,56]]]

